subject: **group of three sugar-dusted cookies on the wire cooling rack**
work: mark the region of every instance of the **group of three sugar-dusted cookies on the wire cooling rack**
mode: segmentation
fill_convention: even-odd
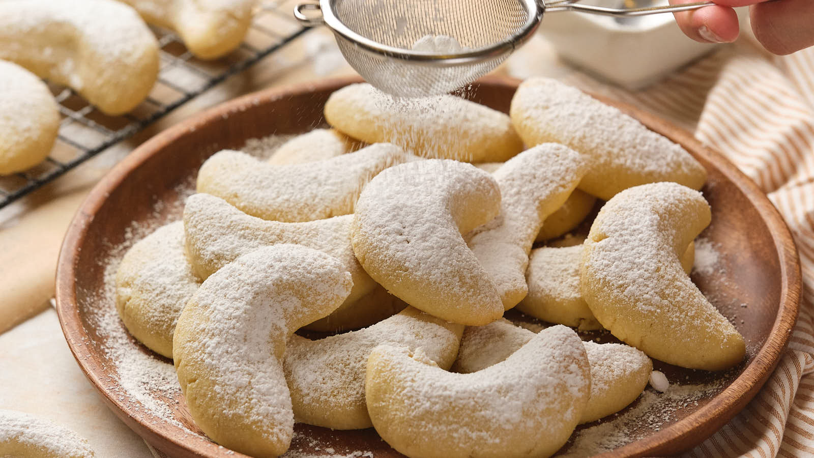
[[[144,100],[159,71],[145,24],[175,30],[200,59],[243,41],[254,0],[6,0],[0,2],[0,174],[27,170],[54,145],[59,111],[40,78],[107,115]]]

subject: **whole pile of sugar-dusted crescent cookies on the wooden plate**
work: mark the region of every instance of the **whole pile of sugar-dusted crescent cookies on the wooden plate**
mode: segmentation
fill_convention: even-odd
[[[413,457],[549,456],[637,399],[650,358],[742,360],[687,275],[706,172],[638,121],[543,78],[510,116],[362,84],[325,117],[268,161],[210,157],[183,221],[120,264],[122,321],[173,358],[215,442],[277,456],[300,421],[373,426]],[[599,200],[580,244],[533,249]],[[551,326],[515,326],[515,306]]]

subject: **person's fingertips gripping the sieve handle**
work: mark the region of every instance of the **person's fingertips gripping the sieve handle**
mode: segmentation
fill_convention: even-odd
[[[670,0],[670,3],[697,0]],[[791,54],[814,45],[812,0],[715,0],[716,5],[674,13],[684,33],[698,42],[733,42],[737,15],[733,7],[749,6],[752,31],[761,45],[777,55]]]

